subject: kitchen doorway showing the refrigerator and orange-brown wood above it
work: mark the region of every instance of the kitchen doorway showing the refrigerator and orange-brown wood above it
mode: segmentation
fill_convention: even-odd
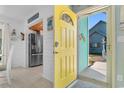
[[[36,22],[29,27],[28,67],[43,72],[43,22]]]

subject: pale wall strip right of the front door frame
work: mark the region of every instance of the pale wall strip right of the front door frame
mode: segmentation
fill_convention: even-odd
[[[117,46],[116,46],[116,87],[124,87],[124,6],[117,6],[116,9],[117,20],[120,20],[119,28],[116,32]],[[116,22],[117,24],[117,22]],[[123,28],[122,28],[123,27]]]

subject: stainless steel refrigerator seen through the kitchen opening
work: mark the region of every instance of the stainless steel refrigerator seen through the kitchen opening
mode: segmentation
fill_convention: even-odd
[[[40,33],[28,35],[29,67],[43,64],[43,36]]]

